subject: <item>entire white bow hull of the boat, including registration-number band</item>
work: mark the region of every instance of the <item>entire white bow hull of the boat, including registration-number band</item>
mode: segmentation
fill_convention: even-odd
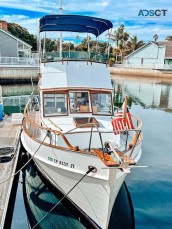
[[[31,156],[39,148],[40,143],[22,133],[22,143]],[[90,158],[92,157],[92,158]],[[54,158],[49,161],[47,158]],[[56,159],[55,159],[56,158]],[[91,159],[91,160],[90,160]],[[58,163],[54,163],[54,160]],[[67,196],[97,228],[108,228],[112,207],[124,182],[126,173],[120,169],[108,169],[94,155],[78,152],[66,152],[42,145],[34,155],[34,161],[41,173],[61,192],[68,193],[88,171],[89,165],[95,166],[97,172],[87,175]],[[66,162],[74,165],[62,165]],[[90,164],[90,161],[92,164]],[[102,169],[106,168],[106,169]]]

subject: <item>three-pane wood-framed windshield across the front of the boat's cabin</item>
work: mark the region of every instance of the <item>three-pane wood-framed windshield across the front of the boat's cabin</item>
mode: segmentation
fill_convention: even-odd
[[[58,116],[79,113],[112,115],[110,92],[69,91],[44,92],[44,116]],[[69,110],[68,110],[69,109]]]

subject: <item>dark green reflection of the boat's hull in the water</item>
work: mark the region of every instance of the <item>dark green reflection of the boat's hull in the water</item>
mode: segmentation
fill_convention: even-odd
[[[33,227],[63,197],[30,164],[23,171],[23,195],[29,223]],[[123,220],[125,219],[125,220]],[[36,228],[93,228],[79,211],[64,199]],[[109,229],[133,229],[134,215],[129,192],[125,184],[121,187],[113,207]]]

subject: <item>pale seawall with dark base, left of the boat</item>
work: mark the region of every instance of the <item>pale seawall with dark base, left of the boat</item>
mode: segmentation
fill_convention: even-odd
[[[26,83],[38,81],[38,67],[0,66],[0,83]]]

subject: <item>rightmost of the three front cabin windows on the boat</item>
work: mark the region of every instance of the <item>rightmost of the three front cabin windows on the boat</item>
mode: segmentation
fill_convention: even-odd
[[[112,96],[108,92],[92,92],[91,105],[93,114],[112,115]]]

